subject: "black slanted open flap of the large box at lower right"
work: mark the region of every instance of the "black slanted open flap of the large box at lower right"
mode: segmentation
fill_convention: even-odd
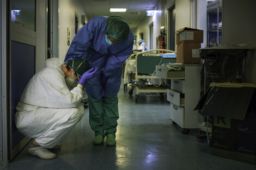
[[[211,85],[214,84],[212,83]],[[240,85],[241,83],[229,83],[230,87],[222,87],[222,84],[225,83],[217,83],[214,87],[210,87],[202,99],[199,100],[196,110],[201,109],[203,116],[228,117],[243,120],[255,87],[232,86],[233,84]]]

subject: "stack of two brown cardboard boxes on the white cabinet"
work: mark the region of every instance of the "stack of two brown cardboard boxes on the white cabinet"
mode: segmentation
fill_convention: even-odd
[[[199,48],[203,42],[203,30],[182,28],[176,31],[177,58],[180,63],[200,63]]]

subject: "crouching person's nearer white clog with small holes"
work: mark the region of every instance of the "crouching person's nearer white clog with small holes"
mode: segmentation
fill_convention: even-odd
[[[32,155],[38,156],[41,159],[54,159],[56,154],[43,147],[28,148],[28,152]]]

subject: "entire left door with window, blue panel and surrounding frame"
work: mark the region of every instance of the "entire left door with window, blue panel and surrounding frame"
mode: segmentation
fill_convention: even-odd
[[[28,81],[47,58],[47,0],[2,1],[3,161],[11,161],[31,140],[15,125],[17,103]],[[39,22],[36,22],[39,21]],[[2,22],[3,23],[3,22]],[[5,40],[3,40],[5,39]],[[4,49],[4,50],[3,50]],[[4,95],[4,96],[3,96]]]

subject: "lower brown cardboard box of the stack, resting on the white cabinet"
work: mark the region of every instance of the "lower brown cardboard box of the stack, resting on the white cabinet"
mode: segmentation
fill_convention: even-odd
[[[200,63],[199,55],[194,55],[196,49],[201,48],[201,43],[181,43],[177,45],[176,62],[180,63]]]

